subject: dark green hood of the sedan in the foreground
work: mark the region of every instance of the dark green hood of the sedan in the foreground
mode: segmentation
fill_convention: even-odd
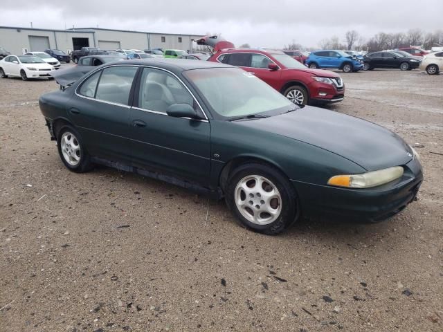
[[[235,123],[315,145],[352,160],[368,171],[405,165],[412,159],[406,142],[392,131],[317,107]]]

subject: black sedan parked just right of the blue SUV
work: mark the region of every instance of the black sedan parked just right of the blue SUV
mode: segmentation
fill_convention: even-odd
[[[420,65],[418,59],[401,56],[394,52],[368,53],[363,61],[365,71],[372,71],[374,68],[400,68],[402,71],[410,71]]]

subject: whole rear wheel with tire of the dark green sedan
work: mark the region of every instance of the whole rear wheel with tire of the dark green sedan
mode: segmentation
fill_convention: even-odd
[[[91,158],[73,127],[63,127],[57,133],[57,149],[62,162],[70,171],[82,173],[92,168]]]

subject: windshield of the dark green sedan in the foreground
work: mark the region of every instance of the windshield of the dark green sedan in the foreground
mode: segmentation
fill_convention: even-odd
[[[216,118],[273,116],[296,108],[271,86],[239,68],[194,69],[184,75],[208,101]]]

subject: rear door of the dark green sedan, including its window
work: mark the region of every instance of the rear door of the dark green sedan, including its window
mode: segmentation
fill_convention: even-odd
[[[129,100],[138,66],[109,66],[78,86],[69,119],[93,156],[130,163]]]

